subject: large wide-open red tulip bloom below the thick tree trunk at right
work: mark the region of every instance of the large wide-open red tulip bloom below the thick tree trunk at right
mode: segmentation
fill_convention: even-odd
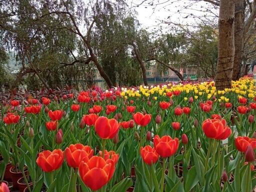
[[[231,134],[231,129],[226,126],[225,119],[206,119],[202,122],[202,130],[209,138],[226,139]]]

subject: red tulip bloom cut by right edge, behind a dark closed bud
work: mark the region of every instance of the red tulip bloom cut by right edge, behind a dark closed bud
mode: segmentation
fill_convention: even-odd
[[[251,145],[253,149],[256,148],[256,138],[249,138],[247,136],[237,136],[234,139],[235,147],[240,152],[245,152],[248,145]]]

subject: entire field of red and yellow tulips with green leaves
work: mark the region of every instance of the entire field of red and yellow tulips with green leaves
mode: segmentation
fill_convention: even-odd
[[[246,76],[224,90],[192,81],[0,93],[0,192],[252,191],[255,88]]]

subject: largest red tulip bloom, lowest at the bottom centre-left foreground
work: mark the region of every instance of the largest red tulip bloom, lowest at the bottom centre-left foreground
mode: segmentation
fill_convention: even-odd
[[[113,160],[104,160],[101,156],[92,156],[87,161],[81,161],[79,165],[81,180],[92,190],[98,190],[104,186],[113,176],[113,173]]]

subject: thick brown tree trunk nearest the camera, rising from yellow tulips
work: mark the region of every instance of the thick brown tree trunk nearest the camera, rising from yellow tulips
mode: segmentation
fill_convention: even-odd
[[[219,1],[218,61],[215,86],[231,88],[234,61],[234,0]]]

